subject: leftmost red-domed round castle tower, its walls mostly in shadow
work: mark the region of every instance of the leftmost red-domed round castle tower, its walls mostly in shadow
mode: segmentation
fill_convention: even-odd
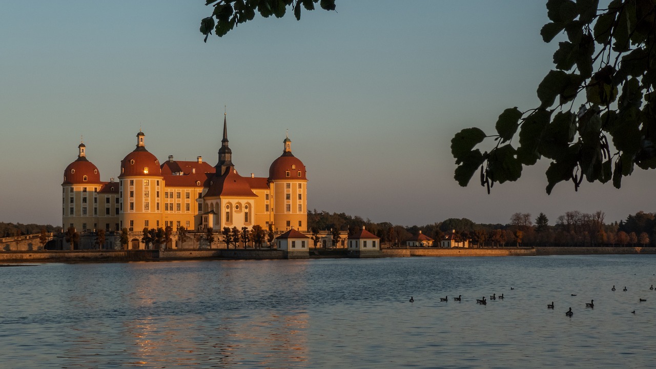
[[[98,227],[98,190],[100,173],[87,159],[87,146],[78,146],[77,160],[64,169],[62,182],[62,227],[78,232]]]

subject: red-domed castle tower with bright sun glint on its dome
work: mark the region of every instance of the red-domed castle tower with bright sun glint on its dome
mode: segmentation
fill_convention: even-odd
[[[121,160],[119,175],[119,227],[143,230],[162,224],[161,198],[165,190],[159,160],[146,150],[142,131],[136,134],[136,148]]]

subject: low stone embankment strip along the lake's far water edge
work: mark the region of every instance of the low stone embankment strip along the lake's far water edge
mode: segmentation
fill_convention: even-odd
[[[502,257],[544,255],[656,255],[656,248],[390,248],[366,257]],[[352,257],[346,249],[310,249],[302,259],[337,259]],[[364,257],[364,256],[362,256]],[[211,249],[211,250],[45,250],[4,251],[0,253],[0,267],[5,263],[121,263],[129,261],[176,260],[271,260],[295,259],[282,250],[273,249]],[[357,258],[357,257],[356,257]]]

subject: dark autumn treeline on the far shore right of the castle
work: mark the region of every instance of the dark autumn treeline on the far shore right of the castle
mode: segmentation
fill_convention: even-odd
[[[470,240],[479,247],[507,246],[654,246],[656,245],[656,214],[638,211],[628,215],[625,221],[606,224],[605,213],[587,214],[567,211],[560,215],[555,225],[549,225],[546,215],[533,218],[529,213],[515,213],[506,224],[474,223],[470,219],[449,218],[429,225],[403,227],[392,223],[374,223],[369,219],[346,215],[310,211],[310,230],[346,230],[354,234],[363,226],[381,238],[401,246],[405,240],[421,230],[436,242],[455,230],[458,240]],[[437,246],[437,245],[436,245]]]

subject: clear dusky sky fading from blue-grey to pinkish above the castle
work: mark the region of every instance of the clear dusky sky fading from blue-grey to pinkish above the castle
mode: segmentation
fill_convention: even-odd
[[[289,130],[308,209],[375,222],[508,223],[513,213],[655,211],[655,171],[556,185],[548,161],[487,194],[453,179],[451,138],[494,134],[505,108],[539,105],[556,39],[546,1],[337,0],[300,21],[256,18],[203,43],[205,0],[5,1],[0,12],[0,221],[59,225],[81,137],[103,181],[146,134],[160,162],[215,165],[224,106],[233,162],[267,177]],[[489,143],[491,144],[491,143]]]

